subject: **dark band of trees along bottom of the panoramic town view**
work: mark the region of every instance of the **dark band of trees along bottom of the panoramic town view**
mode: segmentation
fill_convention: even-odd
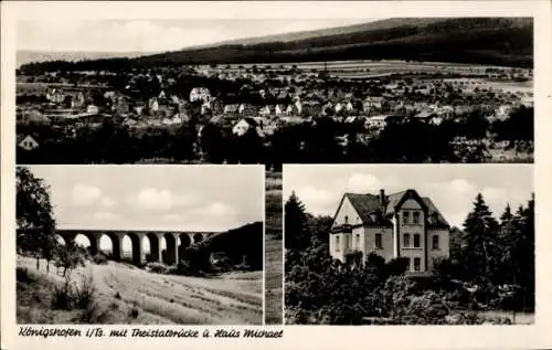
[[[319,118],[316,125],[284,126],[265,138],[254,127],[237,137],[227,128],[198,119],[177,129],[139,134],[110,119],[98,129],[79,128],[73,136],[64,129],[38,125],[19,125],[18,134],[33,135],[40,142],[31,151],[18,148],[20,163],[132,163],[158,158],[172,162],[265,163],[279,169],[283,163],[304,162],[484,162],[489,159],[489,149],[482,140],[489,138],[506,140],[511,147],[517,145],[517,150],[531,153],[533,117],[532,108],[521,108],[492,124],[478,112],[438,126],[389,118],[379,134],[368,134],[361,121]],[[529,146],[519,148],[519,141]]]

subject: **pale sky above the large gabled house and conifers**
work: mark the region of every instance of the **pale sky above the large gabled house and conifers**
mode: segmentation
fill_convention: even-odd
[[[527,205],[533,192],[531,165],[285,166],[284,201],[291,191],[315,215],[333,216],[344,192],[386,194],[414,189],[428,197],[452,226],[461,227],[482,193],[495,218],[507,203]]]

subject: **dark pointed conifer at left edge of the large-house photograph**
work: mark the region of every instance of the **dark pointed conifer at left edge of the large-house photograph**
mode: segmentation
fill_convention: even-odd
[[[284,206],[284,234],[286,248],[304,251],[309,246],[310,237],[306,230],[307,215],[305,205],[291,193]]]

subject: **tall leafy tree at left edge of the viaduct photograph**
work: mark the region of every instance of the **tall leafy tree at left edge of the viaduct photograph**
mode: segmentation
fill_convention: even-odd
[[[28,168],[18,167],[15,176],[18,251],[33,255],[36,258],[36,269],[40,267],[40,258],[45,257],[49,271],[52,253],[57,246],[50,188]]]

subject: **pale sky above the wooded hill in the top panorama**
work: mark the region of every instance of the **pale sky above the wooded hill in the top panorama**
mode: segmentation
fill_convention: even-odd
[[[365,23],[374,19],[86,20],[17,22],[17,49],[28,51],[163,52],[221,41]]]

